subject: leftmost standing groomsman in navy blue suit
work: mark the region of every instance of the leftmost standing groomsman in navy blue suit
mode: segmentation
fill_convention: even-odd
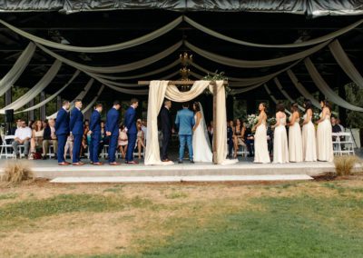
[[[55,135],[58,139],[58,164],[68,165],[64,160],[64,146],[69,135],[69,101],[64,100],[62,108],[58,111],[55,119]]]

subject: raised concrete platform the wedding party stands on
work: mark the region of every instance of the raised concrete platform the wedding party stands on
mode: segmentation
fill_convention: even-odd
[[[0,173],[4,171],[6,162],[14,160],[0,160]],[[140,177],[140,176],[246,176],[246,175],[319,175],[335,172],[332,163],[290,163],[290,164],[253,164],[250,161],[241,161],[238,164],[173,164],[145,166],[143,164],[122,164],[111,166],[59,166],[54,160],[25,161],[38,178],[54,179],[58,177]],[[101,178],[100,178],[101,179]],[[142,180],[142,179],[141,179]]]

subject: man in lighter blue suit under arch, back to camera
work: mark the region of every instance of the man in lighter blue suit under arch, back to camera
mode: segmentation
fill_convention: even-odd
[[[175,119],[175,125],[177,128],[179,128],[179,141],[181,143],[180,149],[179,149],[179,164],[182,164],[182,159],[184,157],[184,149],[185,149],[185,143],[188,145],[188,151],[189,151],[189,159],[191,161],[191,164],[194,163],[193,161],[193,152],[192,152],[192,128],[195,124],[194,119],[194,113],[189,110],[189,104],[183,103],[182,104],[182,110],[178,111],[178,114],[176,114]]]

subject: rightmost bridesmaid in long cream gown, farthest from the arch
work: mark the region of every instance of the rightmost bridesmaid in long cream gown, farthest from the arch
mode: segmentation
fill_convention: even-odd
[[[318,121],[317,132],[318,160],[332,162],[334,154],[333,140],[331,136],[332,128],[330,124],[331,107],[326,100],[321,101],[320,106],[322,108],[322,112]]]

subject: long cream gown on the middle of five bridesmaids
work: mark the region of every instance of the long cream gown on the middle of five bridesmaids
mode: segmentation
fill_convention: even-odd
[[[299,121],[295,121],[293,125],[289,126],[289,161],[302,162],[302,137]]]

